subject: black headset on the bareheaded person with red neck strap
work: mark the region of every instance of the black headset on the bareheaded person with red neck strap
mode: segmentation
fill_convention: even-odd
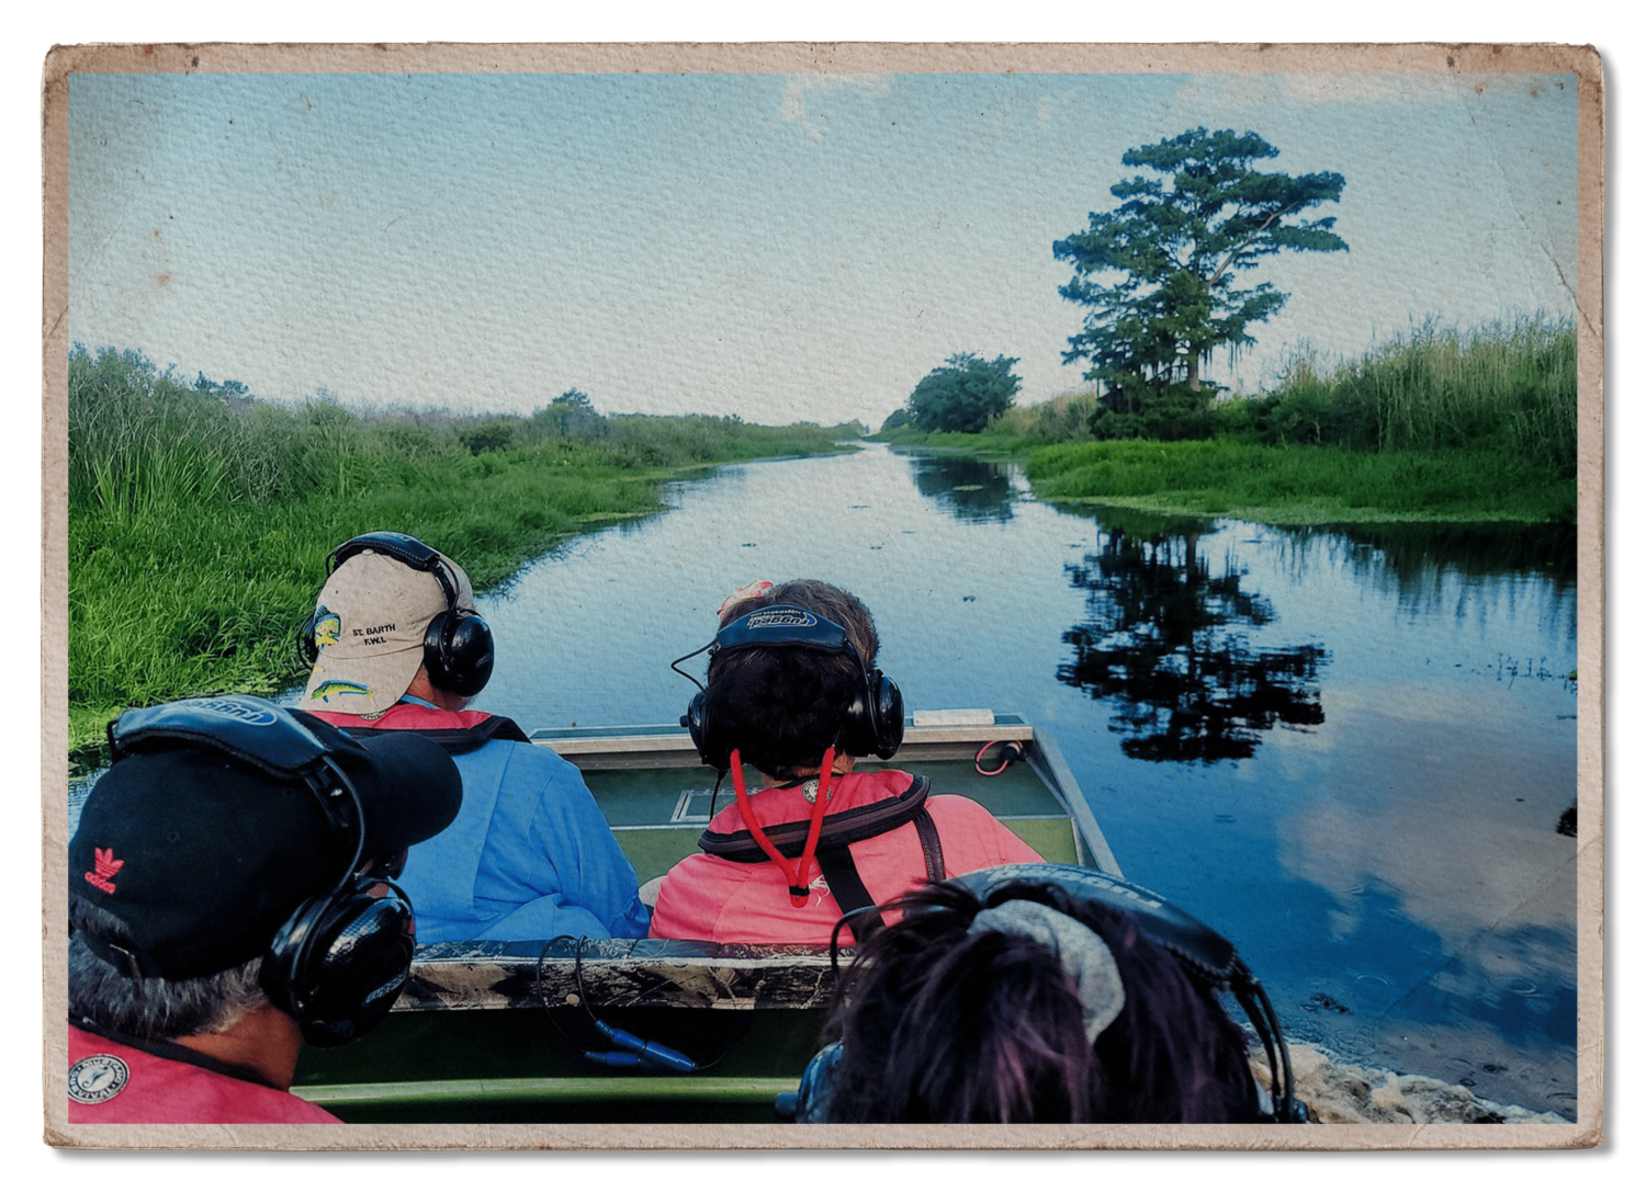
[[[863,676],[859,689],[851,697],[851,705],[844,709],[835,748],[854,758],[866,758],[871,753],[882,761],[897,753],[904,743],[904,694],[897,684],[886,677],[879,668],[871,671],[856,646],[846,636],[846,630],[831,620],[800,608],[797,605],[767,605],[746,613],[724,625],[714,635],[714,641],[693,649],[685,658],[677,658],[670,666],[698,686],[698,694],[691,697],[686,714],[680,717],[683,728],[691,732],[691,743],[698,746],[703,765],[724,773],[731,769],[731,751],[737,746],[728,730],[713,722],[708,715],[708,689],[680,669],[688,658],[696,658],[704,649],[709,659],[723,649],[821,649],[831,654],[848,654],[858,663]]]

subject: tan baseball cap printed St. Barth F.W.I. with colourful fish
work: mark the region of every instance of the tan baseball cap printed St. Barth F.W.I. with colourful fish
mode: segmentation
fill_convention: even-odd
[[[472,608],[467,574],[444,554],[439,561],[456,580],[454,607]],[[319,656],[298,707],[382,715],[407,694],[423,666],[428,623],[449,607],[433,571],[418,571],[370,547],[351,554],[326,580],[314,605],[309,626]]]

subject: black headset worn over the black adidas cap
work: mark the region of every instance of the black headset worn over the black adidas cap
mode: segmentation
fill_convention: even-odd
[[[331,889],[306,899],[275,932],[260,982],[316,1047],[349,1042],[377,1026],[405,988],[416,934],[412,899],[390,881],[405,855],[360,873],[365,814],[332,756],[360,746],[328,745],[290,710],[247,695],[127,712],[109,725],[109,745],[115,760],[155,745],[216,750],[314,794],[332,840],[352,839],[351,860]],[[137,959],[128,955],[128,963]]]

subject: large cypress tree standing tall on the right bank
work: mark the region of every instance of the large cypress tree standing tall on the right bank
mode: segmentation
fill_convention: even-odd
[[[1093,212],[1085,232],[1052,245],[1075,266],[1058,293],[1091,307],[1063,363],[1090,360],[1104,386],[1093,431],[1104,437],[1192,437],[1215,393],[1200,365],[1213,349],[1256,340],[1248,327],[1287,299],[1267,281],[1236,284],[1282,248],[1348,250],[1335,219],[1300,219],[1343,194],[1341,174],[1267,174],[1253,163],[1279,150],[1256,133],[1190,128],[1121,158],[1157,176],[1109,187],[1121,206]]]

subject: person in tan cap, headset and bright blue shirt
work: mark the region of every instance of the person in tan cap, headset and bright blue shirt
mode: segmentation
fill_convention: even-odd
[[[458,820],[402,876],[418,939],[645,936],[634,866],[578,769],[514,720],[467,709],[492,674],[492,633],[463,569],[387,531],[349,539],[328,567],[298,707],[356,737],[421,733],[463,774]]]

